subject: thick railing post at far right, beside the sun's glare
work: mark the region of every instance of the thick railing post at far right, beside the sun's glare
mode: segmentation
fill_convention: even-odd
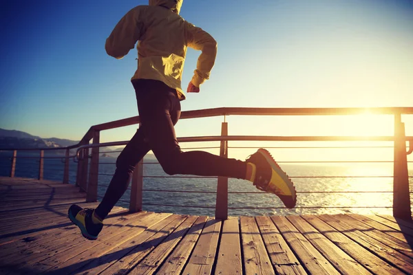
[[[401,122],[400,114],[394,115],[393,174],[393,216],[401,219],[412,219],[405,126],[404,123]]]

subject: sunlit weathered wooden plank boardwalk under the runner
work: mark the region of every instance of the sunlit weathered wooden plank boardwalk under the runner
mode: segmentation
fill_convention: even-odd
[[[114,208],[97,241],[78,188],[0,177],[0,274],[413,274],[413,223],[337,214],[211,217]]]

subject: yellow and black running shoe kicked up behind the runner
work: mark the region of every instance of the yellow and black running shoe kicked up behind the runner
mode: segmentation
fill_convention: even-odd
[[[246,162],[255,164],[256,171],[253,184],[257,189],[277,195],[287,208],[295,207],[297,195],[293,181],[275,162],[270,152],[260,148],[248,157]]]

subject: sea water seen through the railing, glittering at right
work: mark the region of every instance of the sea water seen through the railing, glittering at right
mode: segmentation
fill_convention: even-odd
[[[98,197],[100,198],[105,195],[107,185],[112,179],[116,168],[115,162],[116,159],[113,157],[100,158],[100,175],[98,176]],[[143,179],[144,210],[209,216],[215,214],[217,178],[193,178],[184,175],[169,177],[159,164],[153,164],[153,162],[153,159],[145,160],[147,164],[144,164],[143,167],[145,177]],[[249,181],[229,179],[229,208],[237,208],[229,209],[229,215],[335,214],[343,212],[392,214],[392,163],[281,164],[280,166],[293,177],[297,190],[296,208],[293,210],[282,208],[283,204],[277,196],[263,192],[231,193],[258,192],[258,190]],[[44,178],[62,181],[63,167],[63,159],[61,158],[45,159]],[[38,159],[18,159],[16,177],[36,178],[38,173]],[[1,157],[0,176],[8,175],[10,175],[10,158]],[[409,175],[410,190],[413,190],[413,170],[409,170]],[[76,163],[73,161],[70,162],[69,181],[70,184],[74,184],[76,181]],[[191,192],[154,192],[150,190]],[[195,193],[193,191],[213,193]],[[118,202],[118,206],[129,208],[130,192],[129,186]]]

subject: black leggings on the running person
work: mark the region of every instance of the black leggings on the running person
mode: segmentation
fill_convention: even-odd
[[[246,163],[203,151],[182,152],[173,126],[180,118],[176,90],[157,80],[132,81],[141,126],[116,160],[116,171],[96,214],[105,219],[129,185],[134,168],[152,150],[169,175],[224,176],[244,179]]]

